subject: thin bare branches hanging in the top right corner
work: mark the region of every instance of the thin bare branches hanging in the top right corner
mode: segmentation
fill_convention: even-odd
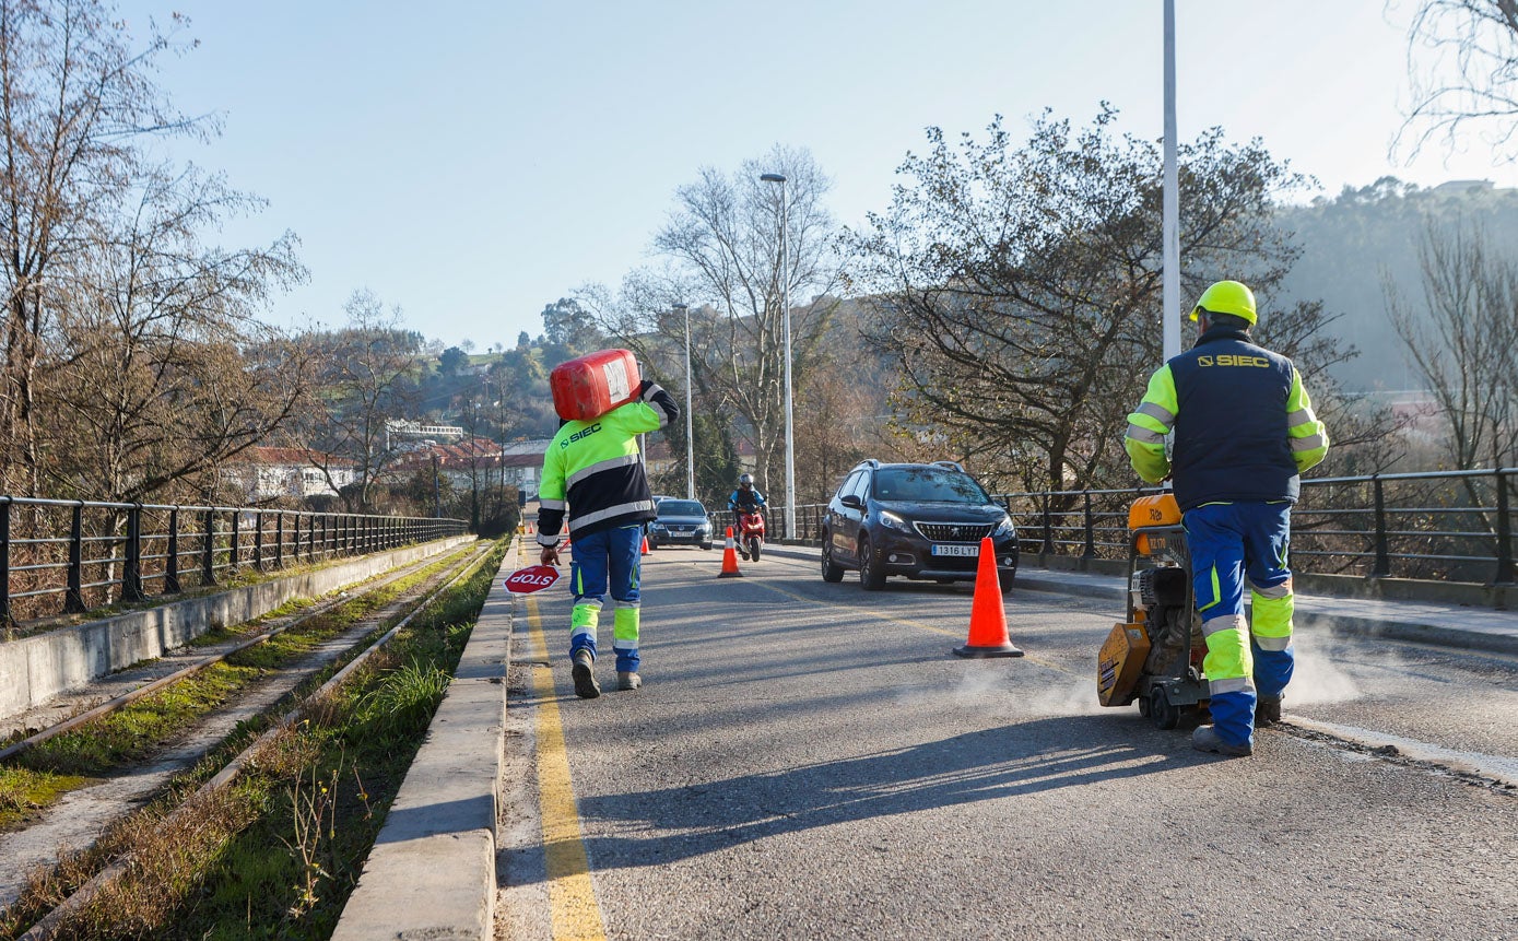
[[[1407,33],[1412,108],[1398,141],[1416,153],[1442,135],[1480,129],[1495,153],[1518,159],[1518,0],[1421,0]]]

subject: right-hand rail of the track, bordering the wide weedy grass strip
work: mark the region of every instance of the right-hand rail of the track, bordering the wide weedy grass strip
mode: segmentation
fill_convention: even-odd
[[[326,683],[319,686],[314,692],[307,695],[301,706],[291,709],[284,716],[279,718],[270,729],[258,736],[247,748],[244,748],[237,757],[234,757],[226,766],[222,768],[214,777],[202,783],[185,801],[172,810],[159,824],[162,829],[179,826],[185,818],[197,807],[209,803],[216,794],[229,788],[237,777],[255,762],[266,748],[275,744],[281,736],[287,735],[291,727],[305,716],[310,706],[322,703],[328,695],[337,691],[343,683],[346,683],[354,672],[364,665],[370,656],[381,651],[396,634],[401,633],[413,619],[427,612],[445,592],[451,590],[458,581],[471,577],[478,571],[480,565],[489,559],[495,551],[495,545],[487,546],[475,559],[468,560],[460,571],[449,578],[443,586],[428,595],[420,604],[417,604],[405,618],[396,622],[390,630],[387,630],[381,637],[370,644],[363,653],[354,657],[348,665],[339,669]],[[88,906],[94,899],[100,897],[117,879],[126,874],[134,865],[134,858],[131,854],[117,859],[109,867],[97,873],[88,882],[80,885],[68,899],[58,905],[52,912],[49,912],[41,921],[33,924],[26,933],[20,935],[23,941],[43,941],[47,938],[56,938],[61,932],[67,930],[71,917],[77,915]]]

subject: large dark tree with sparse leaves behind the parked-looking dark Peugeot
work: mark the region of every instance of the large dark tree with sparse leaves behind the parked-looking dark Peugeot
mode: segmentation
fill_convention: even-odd
[[[909,155],[891,208],[852,232],[858,284],[879,316],[871,340],[903,375],[908,430],[941,436],[940,455],[975,460],[994,483],[1028,489],[1125,486],[1126,413],[1160,364],[1161,161],[1114,140],[1110,108],[1085,131],[1044,114],[1023,147],[1000,118],[978,143]],[[1268,302],[1295,258],[1272,222],[1277,193],[1302,178],[1258,141],[1213,129],[1181,149],[1183,290],[1217,278]],[[1261,335],[1301,340],[1321,308],[1269,310]],[[1328,357],[1350,351],[1322,346]],[[1315,366],[1302,363],[1305,375]]]

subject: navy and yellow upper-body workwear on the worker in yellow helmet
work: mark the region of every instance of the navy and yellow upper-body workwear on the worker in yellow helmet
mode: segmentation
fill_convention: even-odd
[[[1164,436],[1175,431],[1175,464]],[[1296,366],[1243,331],[1213,328],[1151,378],[1123,439],[1149,483],[1175,478],[1181,510],[1213,501],[1295,502],[1299,474],[1328,454]]]

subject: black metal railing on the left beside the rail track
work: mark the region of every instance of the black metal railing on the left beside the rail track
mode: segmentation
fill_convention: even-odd
[[[461,519],[0,496],[0,625],[466,528]]]

